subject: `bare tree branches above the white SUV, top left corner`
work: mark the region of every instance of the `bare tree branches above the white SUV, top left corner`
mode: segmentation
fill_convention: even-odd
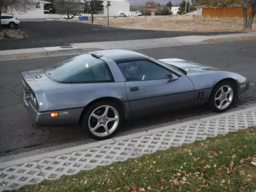
[[[0,0],[0,17],[3,11],[12,12],[13,10],[21,13],[36,8],[35,0]],[[0,31],[2,31],[0,20]]]

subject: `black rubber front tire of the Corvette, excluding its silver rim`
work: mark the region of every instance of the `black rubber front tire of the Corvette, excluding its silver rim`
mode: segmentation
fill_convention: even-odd
[[[226,107],[226,108],[223,108],[223,109],[219,109],[216,107],[215,105],[215,96],[218,92],[218,90],[222,87],[222,86],[229,86],[230,88],[232,88],[232,91],[233,91],[233,97],[232,97],[232,100],[230,102],[230,104]],[[230,81],[224,81],[224,82],[220,82],[219,84],[217,84],[214,89],[212,90],[212,93],[211,93],[211,96],[210,96],[210,99],[207,103],[207,106],[210,110],[212,110],[213,112],[218,112],[218,113],[221,113],[221,112],[225,112],[226,110],[228,110],[230,108],[230,106],[232,105],[234,99],[236,97],[236,86],[234,85],[234,83],[230,82]]]

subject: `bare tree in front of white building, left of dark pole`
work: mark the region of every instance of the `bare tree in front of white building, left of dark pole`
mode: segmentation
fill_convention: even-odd
[[[84,3],[84,0],[56,0],[54,1],[54,8],[56,10],[56,13],[59,14],[68,14],[77,12],[81,9],[82,3]]]

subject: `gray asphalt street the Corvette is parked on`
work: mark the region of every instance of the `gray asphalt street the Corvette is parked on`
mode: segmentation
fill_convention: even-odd
[[[256,83],[256,41],[226,42],[217,44],[201,44],[177,46],[169,48],[152,48],[137,50],[156,59],[184,58],[208,64],[224,70],[237,72]],[[80,128],[43,128],[32,127],[31,118],[23,107],[21,95],[21,71],[44,68],[71,56],[48,57],[0,62],[0,156],[17,154],[46,146],[66,144],[74,146],[94,142]],[[256,88],[251,88],[240,96],[233,108],[256,101]],[[213,114],[205,106],[162,114],[150,118],[127,122],[116,136],[150,130],[180,122],[195,116]]]

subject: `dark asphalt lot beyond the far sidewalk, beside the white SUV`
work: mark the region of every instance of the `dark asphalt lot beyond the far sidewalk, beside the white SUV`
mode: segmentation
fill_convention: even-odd
[[[124,18],[125,19],[125,18]],[[56,20],[24,21],[18,28],[28,38],[0,41],[0,50],[63,46],[71,43],[154,39],[188,35],[218,35],[232,32],[178,32],[135,30]]]

